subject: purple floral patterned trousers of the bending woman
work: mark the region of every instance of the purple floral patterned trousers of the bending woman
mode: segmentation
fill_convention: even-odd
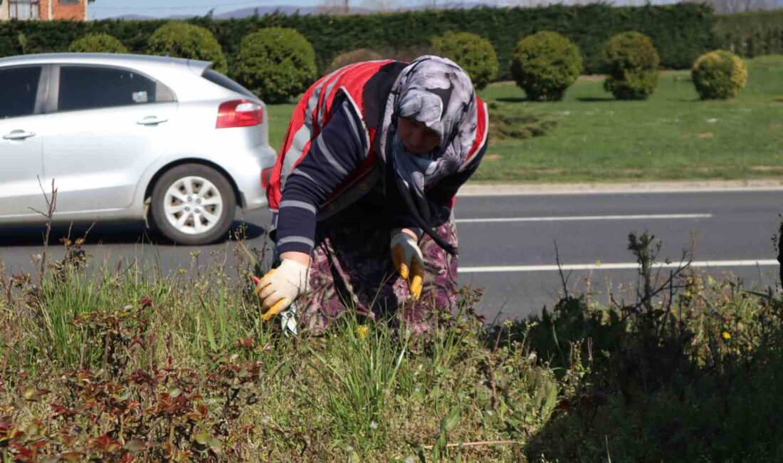
[[[449,255],[424,233],[424,288],[417,302],[391,262],[390,227],[382,208],[359,201],[323,220],[316,227],[316,246],[310,264],[309,295],[298,300],[299,327],[323,331],[346,310],[370,319],[393,317],[414,332],[426,331],[437,310],[456,305],[456,255]],[[457,246],[453,215],[438,234]]]

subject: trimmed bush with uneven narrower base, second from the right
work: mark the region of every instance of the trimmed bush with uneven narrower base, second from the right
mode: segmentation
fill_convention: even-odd
[[[607,78],[604,89],[616,99],[647,99],[658,85],[661,58],[647,35],[623,32],[604,48]]]

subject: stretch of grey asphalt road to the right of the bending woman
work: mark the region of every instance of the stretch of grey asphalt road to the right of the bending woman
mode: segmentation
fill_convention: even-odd
[[[458,223],[460,280],[486,288],[488,317],[499,309],[513,318],[551,307],[562,287],[551,269],[557,243],[566,268],[595,267],[570,270],[569,290],[586,291],[589,281],[598,302],[608,302],[610,289],[615,299],[629,300],[635,296],[629,284],[636,283],[637,269],[627,250],[628,234],[648,230],[662,243],[661,262],[680,262],[683,251],[692,248],[699,271],[731,273],[746,285],[766,288],[778,280],[771,237],[780,225],[781,200],[780,191],[461,198],[459,219],[524,221]],[[607,269],[611,264],[620,268]]]

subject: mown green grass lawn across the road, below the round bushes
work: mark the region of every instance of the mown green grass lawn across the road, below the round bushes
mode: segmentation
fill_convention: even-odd
[[[616,101],[584,76],[557,103],[525,100],[513,83],[481,96],[490,112],[554,122],[545,136],[496,139],[474,176],[501,182],[754,179],[783,175],[783,56],[749,60],[737,99],[702,102],[687,71],[664,71],[647,101]],[[280,146],[293,104],[269,107]],[[535,124],[534,124],[535,125]],[[499,138],[499,137],[496,137]]]

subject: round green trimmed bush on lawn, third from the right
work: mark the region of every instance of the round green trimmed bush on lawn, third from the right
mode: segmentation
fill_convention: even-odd
[[[557,101],[582,73],[579,48],[557,32],[544,31],[519,41],[511,75],[528,99]]]

